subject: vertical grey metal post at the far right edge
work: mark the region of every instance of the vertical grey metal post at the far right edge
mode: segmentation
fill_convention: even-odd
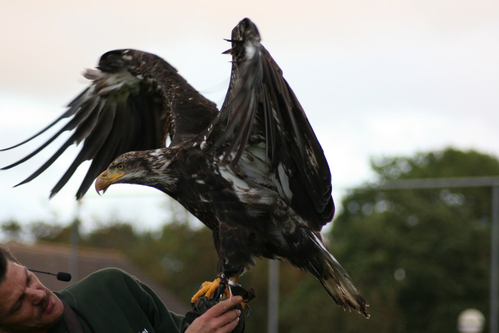
[[[499,186],[492,186],[491,333],[499,333]]]

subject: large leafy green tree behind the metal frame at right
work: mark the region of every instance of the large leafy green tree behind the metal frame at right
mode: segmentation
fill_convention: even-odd
[[[499,162],[447,149],[373,162],[379,180],[495,176]],[[372,319],[341,332],[455,332],[459,313],[488,313],[491,189],[356,190],[331,250],[370,302]]]

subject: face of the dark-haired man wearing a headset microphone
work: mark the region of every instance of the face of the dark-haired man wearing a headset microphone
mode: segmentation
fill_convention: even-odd
[[[62,316],[62,302],[25,266],[7,265],[0,284],[0,332],[45,332]]]

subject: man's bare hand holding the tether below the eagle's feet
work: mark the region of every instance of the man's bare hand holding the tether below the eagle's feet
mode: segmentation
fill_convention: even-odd
[[[185,333],[229,333],[236,328],[241,312],[228,309],[243,302],[241,296],[233,296],[214,305],[207,312],[196,318]]]

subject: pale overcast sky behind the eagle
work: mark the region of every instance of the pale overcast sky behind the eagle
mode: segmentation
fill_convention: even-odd
[[[169,61],[198,90],[222,102],[232,28],[244,17],[284,72],[326,153],[339,189],[372,178],[371,156],[452,145],[499,156],[497,0],[7,1],[0,0],[0,147],[27,138],[86,87],[83,68],[117,48]],[[37,144],[0,152],[5,166]],[[60,141],[58,142],[60,144]],[[48,201],[77,150],[38,179],[12,188],[42,156],[0,171],[0,221],[68,222],[73,177]],[[150,194],[124,197],[126,194]],[[81,205],[84,227],[111,217],[154,228],[167,220],[159,191],[113,186]]]

